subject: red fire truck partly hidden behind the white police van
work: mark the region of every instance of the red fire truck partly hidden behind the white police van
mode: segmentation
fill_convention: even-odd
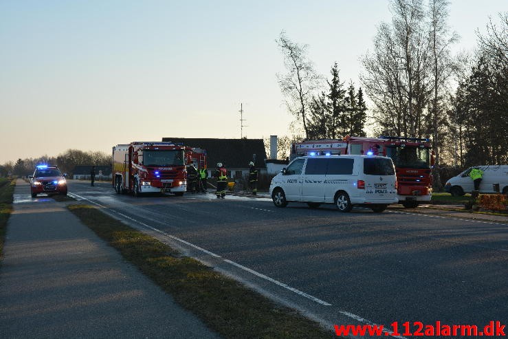
[[[434,164],[430,141],[420,138],[381,136],[360,138],[346,135],[343,140],[307,140],[291,146],[291,157],[300,155],[384,155],[391,157],[397,174],[397,197],[406,208],[430,201]]]

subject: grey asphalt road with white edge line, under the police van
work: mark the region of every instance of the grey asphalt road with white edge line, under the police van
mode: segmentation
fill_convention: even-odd
[[[69,192],[325,323],[508,322],[506,224],[212,194],[134,198],[104,183],[69,181]]]

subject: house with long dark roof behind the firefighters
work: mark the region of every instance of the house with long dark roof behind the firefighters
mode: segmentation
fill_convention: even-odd
[[[162,138],[162,141],[206,150],[209,177],[218,162],[222,162],[232,179],[248,175],[249,162],[254,162],[259,175],[267,174],[263,139]]]

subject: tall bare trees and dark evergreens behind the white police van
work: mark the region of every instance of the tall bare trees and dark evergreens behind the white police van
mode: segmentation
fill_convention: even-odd
[[[317,74],[308,45],[285,32],[276,40],[285,74],[277,74],[296,120],[291,139],[398,135],[430,138],[436,171],[508,162],[508,12],[477,32],[474,53],[452,55],[459,35],[448,27],[448,0],[390,0],[392,20],[381,23],[360,58],[361,86],[345,88],[338,63]],[[365,96],[364,96],[365,94]],[[368,98],[369,109],[365,100]]]

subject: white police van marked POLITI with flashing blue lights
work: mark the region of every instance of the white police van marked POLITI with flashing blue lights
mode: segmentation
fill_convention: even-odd
[[[270,184],[275,206],[303,201],[311,208],[335,204],[341,212],[366,205],[383,212],[397,204],[397,179],[389,157],[318,155],[297,157]]]

